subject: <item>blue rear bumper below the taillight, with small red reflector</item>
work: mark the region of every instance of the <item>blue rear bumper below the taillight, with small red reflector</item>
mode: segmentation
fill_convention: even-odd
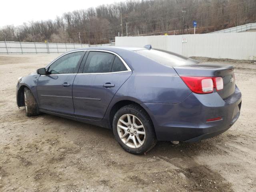
[[[236,90],[223,100],[217,92],[190,94],[177,104],[143,103],[150,115],[158,140],[196,142],[228,130],[240,115],[242,95]],[[239,108],[239,110],[238,110]],[[221,120],[206,122],[207,119]]]

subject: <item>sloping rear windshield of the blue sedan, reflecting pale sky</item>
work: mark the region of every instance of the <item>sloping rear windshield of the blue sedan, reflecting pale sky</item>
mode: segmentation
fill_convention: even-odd
[[[143,49],[136,50],[135,52],[168,67],[198,63],[196,60],[188,57],[160,49]]]

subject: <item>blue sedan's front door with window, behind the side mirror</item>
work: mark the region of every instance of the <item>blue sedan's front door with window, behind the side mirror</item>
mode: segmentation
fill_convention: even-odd
[[[38,78],[37,93],[41,110],[74,116],[72,84],[84,54],[85,51],[76,51],[58,58],[46,69],[47,75]]]

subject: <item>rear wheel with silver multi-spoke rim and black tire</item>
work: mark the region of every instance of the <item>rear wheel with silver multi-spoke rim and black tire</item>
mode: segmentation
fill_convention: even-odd
[[[130,122],[128,118],[130,118]],[[129,153],[146,153],[157,143],[150,117],[137,104],[120,108],[113,118],[112,126],[116,140]]]

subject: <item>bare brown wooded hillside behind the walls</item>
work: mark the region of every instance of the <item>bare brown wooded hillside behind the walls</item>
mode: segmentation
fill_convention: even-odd
[[[0,28],[0,41],[109,43],[121,27],[126,36],[197,33],[256,22],[256,0],[128,0],[68,12],[55,20]],[[182,10],[186,12],[182,12]],[[122,26],[121,24],[122,15]],[[80,32],[80,40],[79,40]]]

